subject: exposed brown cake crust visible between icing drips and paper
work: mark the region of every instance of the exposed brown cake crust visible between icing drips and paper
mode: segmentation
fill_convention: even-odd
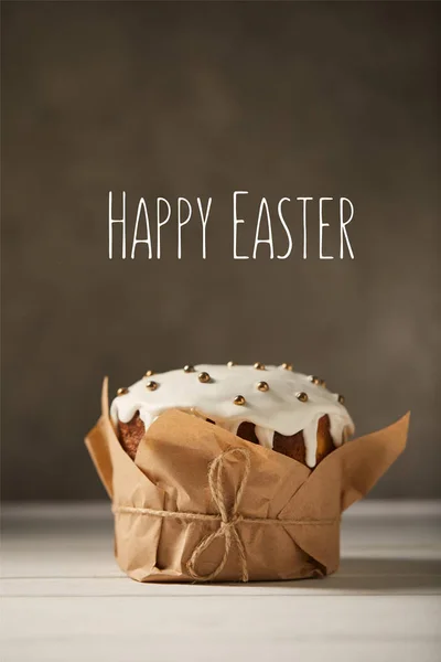
[[[207,419],[209,420],[209,419]],[[209,420],[214,423],[213,420]],[[119,440],[126,452],[135,459],[137,455],[138,446],[144,436],[144,424],[142,423],[139,412],[136,413],[133,418],[129,423],[118,421]],[[330,452],[335,448],[330,431],[330,418],[327,415],[322,416],[319,420],[318,426],[318,448],[316,448],[316,465],[323,460]],[[237,436],[251,444],[259,444],[256,436],[255,424],[244,421],[239,425]],[[305,446],[303,439],[303,433],[299,431],[295,435],[284,436],[279,433],[275,433],[273,438],[273,450],[281,452],[298,462],[306,465],[305,461]]]

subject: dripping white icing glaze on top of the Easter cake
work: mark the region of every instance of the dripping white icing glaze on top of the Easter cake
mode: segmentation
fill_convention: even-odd
[[[208,383],[198,381],[201,372],[209,374]],[[155,391],[146,388],[151,380],[158,383]],[[268,383],[268,391],[258,391],[261,381]],[[306,393],[308,402],[297,398],[301,392]],[[234,404],[237,395],[245,397],[243,406]],[[290,436],[303,430],[305,461],[311,468],[316,462],[316,430],[322,416],[330,418],[335,446],[354,433],[351,416],[335,393],[313,384],[308,375],[276,365],[266,370],[250,365],[196,365],[195,372],[181,369],[143,377],[127,394],[114,399],[110,414],[115,423],[129,423],[139,412],[148,429],[162,412],[171,408],[202,414],[233,434],[241,423],[254,423],[259,444],[266,448],[272,448],[275,431]]]

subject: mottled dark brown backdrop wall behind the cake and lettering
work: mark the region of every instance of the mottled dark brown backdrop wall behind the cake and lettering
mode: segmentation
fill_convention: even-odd
[[[104,496],[100,381],[292,361],[365,433],[412,409],[375,496],[440,496],[437,3],[3,2],[3,495]],[[163,256],[107,257],[107,194],[212,195]],[[232,193],[348,196],[355,260],[232,257]],[[329,207],[330,212],[332,205]],[[153,210],[152,210],[153,211]],[[330,213],[330,223],[335,221]],[[284,252],[283,232],[276,232]],[[154,235],[154,233],[153,233]],[[337,255],[335,225],[326,250]]]

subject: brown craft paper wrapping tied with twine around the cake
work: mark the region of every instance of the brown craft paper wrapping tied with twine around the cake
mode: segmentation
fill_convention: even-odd
[[[169,410],[135,461],[103,413],[86,438],[112,501],[115,554],[138,581],[294,579],[334,573],[341,513],[406,445],[409,414],[311,471],[189,414]]]

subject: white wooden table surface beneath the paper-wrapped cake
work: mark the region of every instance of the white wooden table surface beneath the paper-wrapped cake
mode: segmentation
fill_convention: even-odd
[[[324,579],[147,585],[108,504],[7,505],[1,662],[441,660],[441,504],[366,501]]]

